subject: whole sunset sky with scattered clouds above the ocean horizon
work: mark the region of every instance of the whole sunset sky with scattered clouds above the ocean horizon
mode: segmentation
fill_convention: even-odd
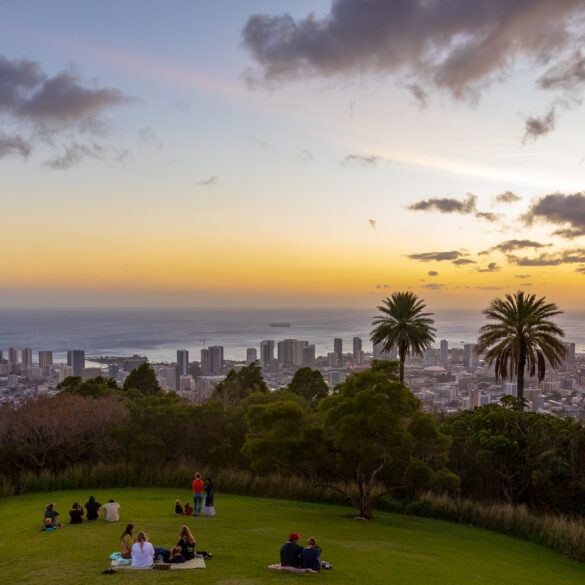
[[[582,308],[583,0],[0,0],[3,307]]]

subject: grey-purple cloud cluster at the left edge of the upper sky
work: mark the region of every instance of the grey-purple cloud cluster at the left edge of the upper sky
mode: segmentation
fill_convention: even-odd
[[[108,130],[106,112],[134,101],[117,88],[84,85],[73,71],[50,77],[36,61],[0,55],[0,115],[5,123],[20,129],[18,136],[0,133],[0,157],[18,154],[27,158],[37,142],[53,145],[55,136],[67,131],[73,142],[65,146],[63,155],[50,159],[48,166],[69,168],[87,156],[102,158],[100,148],[114,151],[95,143],[81,144],[76,133],[104,134]]]

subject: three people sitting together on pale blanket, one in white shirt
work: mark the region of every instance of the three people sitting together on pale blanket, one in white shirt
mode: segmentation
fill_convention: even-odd
[[[128,524],[120,537],[122,559],[132,559],[133,567],[152,567],[154,561],[164,563],[184,563],[195,558],[195,538],[188,526],[181,526],[179,541],[170,550],[162,546],[154,547],[144,531],[134,537],[134,524]]]

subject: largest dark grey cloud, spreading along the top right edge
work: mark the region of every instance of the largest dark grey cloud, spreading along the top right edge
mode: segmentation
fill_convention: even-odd
[[[248,80],[405,74],[477,96],[516,61],[559,63],[578,42],[573,19],[583,11],[582,0],[334,0],[324,18],[255,14],[242,33],[259,67]]]

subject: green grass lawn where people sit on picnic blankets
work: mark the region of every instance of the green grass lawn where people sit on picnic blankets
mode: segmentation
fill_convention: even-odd
[[[64,522],[73,501],[90,495],[121,505],[120,522],[84,522],[40,531],[43,511],[56,502]],[[218,494],[214,518],[177,517],[169,489],[52,492],[0,499],[0,582],[6,585],[100,583],[288,584],[303,581],[343,585],[565,585],[585,581],[585,564],[545,548],[470,526],[378,513],[370,522],[348,518],[350,508]],[[118,550],[127,522],[145,530],[154,546],[170,548],[182,523],[197,549],[213,553],[207,569],[124,571],[101,575]],[[291,531],[315,536],[322,559],[333,564],[319,574],[267,569]],[[303,542],[304,544],[304,542]]]

